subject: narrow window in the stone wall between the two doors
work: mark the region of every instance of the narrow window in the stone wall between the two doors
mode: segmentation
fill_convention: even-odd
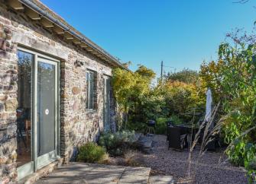
[[[96,101],[96,72],[87,71],[86,72],[86,83],[87,83],[87,100],[86,109],[95,109],[96,106],[94,102]]]

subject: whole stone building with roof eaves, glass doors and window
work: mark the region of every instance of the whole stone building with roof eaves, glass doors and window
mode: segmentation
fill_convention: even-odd
[[[125,68],[41,2],[0,0],[0,183],[68,163],[115,131],[116,67]]]

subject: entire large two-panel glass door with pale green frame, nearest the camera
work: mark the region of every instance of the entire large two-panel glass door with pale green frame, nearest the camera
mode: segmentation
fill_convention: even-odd
[[[59,90],[57,61],[22,48],[17,56],[19,180],[58,158]]]

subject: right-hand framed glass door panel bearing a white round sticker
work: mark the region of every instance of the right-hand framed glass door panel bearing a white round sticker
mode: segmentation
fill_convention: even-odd
[[[57,158],[57,63],[37,62],[37,169]]]

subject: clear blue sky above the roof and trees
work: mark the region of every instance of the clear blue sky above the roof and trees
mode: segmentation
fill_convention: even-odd
[[[199,69],[216,58],[225,33],[256,20],[256,1],[236,0],[41,0],[69,24],[122,62],[165,71]],[[72,2],[72,3],[71,3]]]

